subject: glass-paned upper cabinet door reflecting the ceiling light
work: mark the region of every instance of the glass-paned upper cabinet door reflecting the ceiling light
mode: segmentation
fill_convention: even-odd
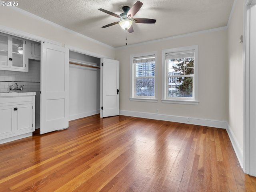
[[[10,57],[12,58],[12,61],[10,63],[11,68],[24,69],[25,68],[25,56],[24,56],[25,40],[22,38],[10,36],[10,44],[11,44]]]

